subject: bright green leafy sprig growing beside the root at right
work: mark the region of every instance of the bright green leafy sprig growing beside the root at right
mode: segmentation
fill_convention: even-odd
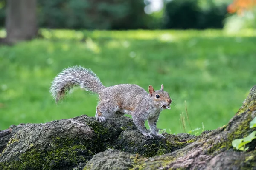
[[[256,117],[250,122],[250,128],[256,127]],[[254,130],[248,136],[240,139],[235,139],[232,141],[232,146],[235,147],[237,150],[246,151],[249,147],[245,147],[245,144],[250,143],[253,139],[256,139],[256,131]]]

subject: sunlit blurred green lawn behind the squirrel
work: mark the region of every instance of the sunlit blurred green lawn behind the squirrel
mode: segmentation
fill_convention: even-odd
[[[4,31],[0,31],[0,36]],[[175,106],[157,127],[181,133],[187,102],[192,128],[226,124],[256,84],[256,31],[227,35],[206,31],[42,30],[44,38],[0,46],[0,130],[12,124],[44,123],[95,115],[96,94],[77,88],[58,105],[52,79],[72,65],[91,68],[103,85],[163,84]],[[188,125],[188,124],[187,124]],[[189,130],[187,126],[187,130]]]

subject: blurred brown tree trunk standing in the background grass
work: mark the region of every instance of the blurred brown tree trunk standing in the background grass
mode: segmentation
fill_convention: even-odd
[[[7,0],[4,43],[30,40],[37,34],[36,0]]]

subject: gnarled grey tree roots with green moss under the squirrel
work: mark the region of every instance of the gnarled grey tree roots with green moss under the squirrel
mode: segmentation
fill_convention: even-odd
[[[0,137],[0,169],[256,170],[256,139],[247,144],[247,152],[231,144],[255,130],[250,128],[255,116],[256,85],[227,125],[200,136],[164,134],[166,139],[149,139],[128,117],[100,123],[82,115],[11,126],[12,132]]]

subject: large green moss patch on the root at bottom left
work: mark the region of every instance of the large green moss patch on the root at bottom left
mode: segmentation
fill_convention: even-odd
[[[96,146],[94,146],[96,147]],[[90,149],[90,150],[89,150]],[[19,161],[0,163],[1,170],[54,170],[74,167],[87,162],[95,154],[95,148],[81,139],[52,139],[49,150],[30,149],[19,157]]]

